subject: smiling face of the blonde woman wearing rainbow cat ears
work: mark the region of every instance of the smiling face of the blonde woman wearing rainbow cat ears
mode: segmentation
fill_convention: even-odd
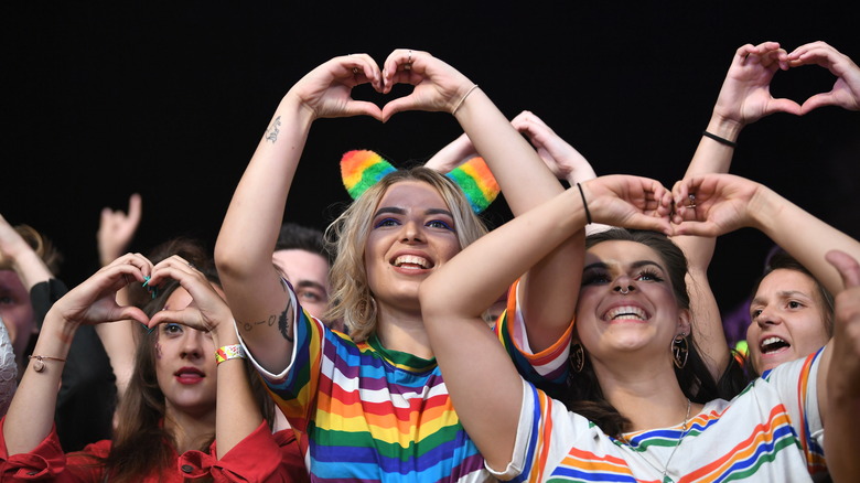
[[[418,286],[459,251],[454,219],[439,192],[420,181],[395,183],[370,221],[367,283],[377,303],[420,310]]]

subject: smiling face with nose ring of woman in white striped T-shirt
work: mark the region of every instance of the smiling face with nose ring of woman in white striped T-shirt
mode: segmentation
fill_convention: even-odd
[[[625,293],[626,292],[626,293]],[[636,242],[602,242],[589,248],[577,304],[577,331],[592,361],[643,354],[664,358],[669,345],[690,333],[657,251]]]

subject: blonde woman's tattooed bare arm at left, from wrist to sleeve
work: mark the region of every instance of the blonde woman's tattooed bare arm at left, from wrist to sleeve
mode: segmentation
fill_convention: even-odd
[[[289,294],[271,255],[284,203],[313,115],[288,94],[248,164],[215,246],[215,262],[243,340],[265,367],[279,372],[292,351]]]

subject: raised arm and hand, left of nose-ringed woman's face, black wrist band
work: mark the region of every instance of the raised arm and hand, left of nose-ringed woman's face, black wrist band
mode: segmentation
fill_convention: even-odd
[[[669,194],[655,181],[603,176],[583,184],[583,194],[596,222],[669,232],[665,218]],[[585,223],[582,196],[572,187],[484,236],[421,285],[424,325],[445,385],[463,427],[491,468],[502,469],[510,460],[523,382],[481,321],[481,312]],[[563,297],[576,303],[578,292]]]

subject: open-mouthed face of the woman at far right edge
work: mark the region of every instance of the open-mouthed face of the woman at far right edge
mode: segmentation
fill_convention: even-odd
[[[764,277],[746,329],[753,368],[761,374],[824,346],[830,339],[824,305],[815,280],[805,273],[776,269]]]

